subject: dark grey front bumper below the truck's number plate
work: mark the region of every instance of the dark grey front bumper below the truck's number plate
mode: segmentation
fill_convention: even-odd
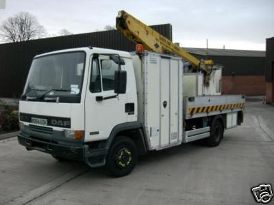
[[[54,156],[59,156],[66,159],[76,161],[84,161],[90,167],[101,167],[105,165],[106,148],[90,150],[89,146],[66,146],[58,142],[44,141],[38,138],[25,137],[22,134],[18,135],[18,142],[27,148],[27,150],[38,150],[46,152]]]

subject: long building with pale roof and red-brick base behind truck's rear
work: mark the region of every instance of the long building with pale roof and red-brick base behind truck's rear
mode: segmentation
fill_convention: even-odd
[[[199,59],[212,59],[223,66],[222,92],[224,94],[265,94],[265,52],[230,49],[185,48]]]

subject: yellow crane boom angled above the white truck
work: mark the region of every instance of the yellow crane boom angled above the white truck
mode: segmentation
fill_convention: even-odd
[[[125,11],[119,11],[116,17],[116,28],[129,40],[132,40],[136,44],[142,44],[145,50],[157,53],[173,53],[174,55],[183,57],[197,70],[206,72],[206,75],[209,74],[207,67],[213,66],[212,60],[197,59]]]

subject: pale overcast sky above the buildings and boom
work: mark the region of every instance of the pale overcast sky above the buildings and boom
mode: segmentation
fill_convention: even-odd
[[[1,1],[1,0],[0,0]],[[171,23],[173,42],[212,49],[265,50],[274,36],[273,0],[5,0],[0,23],[18,12],[38,18],[49,34],[103,30],[125,10],[146,25]]]

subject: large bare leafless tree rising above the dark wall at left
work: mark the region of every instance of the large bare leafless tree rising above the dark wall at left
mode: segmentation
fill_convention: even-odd
[[[0,36],[5,42],[19,42],[42,38],[46,31],[37,18],[27,12],[20,12],[0,25]]]

